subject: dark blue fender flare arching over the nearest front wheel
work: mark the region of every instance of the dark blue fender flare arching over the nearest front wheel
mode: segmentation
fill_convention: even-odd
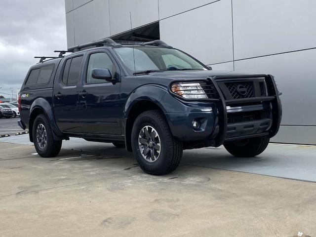
[[[160,85],[144,85],[136,88],[127,98],[124,106],[124,118],[128,118],[128,114],[133,106],[143,100],[154,102],[163,113],[166,113],[164,106],[160,103],[163,96],[168,93],[167,88]]]

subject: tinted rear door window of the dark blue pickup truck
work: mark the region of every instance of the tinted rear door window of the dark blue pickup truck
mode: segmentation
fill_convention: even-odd
[[[83,56],[70,58],[66,61],[62,82],[65,85],[76,85],[81,70],[81,63],[82,63]]]

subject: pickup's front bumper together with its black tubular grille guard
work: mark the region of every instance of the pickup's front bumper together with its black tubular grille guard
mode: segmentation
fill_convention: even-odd
[[[227,79],[265,78],[269,96],[246,99],[225,99],[218,81]],[[281,121],[281,102],[278,97],[276,83],[270,75],[249,75],[239,77],[214,77],[209,79],[215,86],[220,99],[205,99],[208,102],[208,112],[166,113],[171,132],[181,141],[205,141],[208,146],[218,147],[225,142],[246,139],[250,137],[276,135]],[[197,107],[195,107],[197,108]],[[257,118],[235,122],[234,116],[246,113],[259,113]],[[193,129],[193,119],[200,120],[200,128]]]

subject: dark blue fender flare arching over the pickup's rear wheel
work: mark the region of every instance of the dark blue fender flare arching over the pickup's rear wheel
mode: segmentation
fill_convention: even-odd
[[[51,105],[48,103],[48,101],[45,100],[44,98],[37,98],[37,99],[35,99],[33,101],[32,105],[30,107],[29,121],[30,121],[30,119],[32,117],[32,113],[36,109],[40,109],[40,110],[42,110],[44,112],[44,114],[48,118],[48,121],[50,123],[51,129],[54,132],[54,135],[56,135],[57,137],[62,137],[63,134],[58,129],[58,127],[56,125],[54,114],[53,114],[53,109],[52,109]]]

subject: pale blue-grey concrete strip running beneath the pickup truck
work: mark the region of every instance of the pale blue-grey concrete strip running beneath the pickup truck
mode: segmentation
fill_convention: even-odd
[[[29,135],[1,138],[0,141],[33,145]],[[108,154],[111,144],[87,142],[80,138],[63,141],[64,149]],[[34,150],[35,151],[35,150]],[[122,156],[131,156],[125,152]],[[184,151],[182,164],[263,174],[288,179],[316,182],[316,146],[269,144],[264,153],[255,158],[236,158],[223,146]]]

